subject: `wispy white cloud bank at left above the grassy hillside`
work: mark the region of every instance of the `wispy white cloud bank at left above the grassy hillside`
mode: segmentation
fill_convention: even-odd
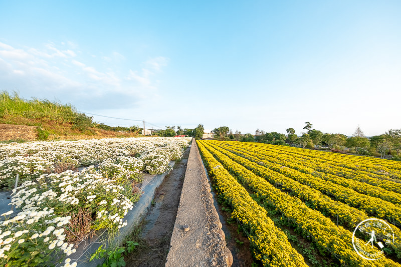
[[[27,97],[56,97],[94,107],[132,106],[157,94],[157,73],[166,65],[164,57],[132,64],[117,51],[105,59],[78,51],[71,42],[47,43],[41,48],[0,43],[0,90],[17,89]]]

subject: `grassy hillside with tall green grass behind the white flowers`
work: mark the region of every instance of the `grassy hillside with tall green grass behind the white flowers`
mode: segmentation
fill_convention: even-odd
[[[38,139],[41,140],[137,136],[137,132],[98,128],[92,117],[78,113],[71,104],[37,98],[26,100],[16,92],[7,91],[0,92],[0,123],[39,126]]]

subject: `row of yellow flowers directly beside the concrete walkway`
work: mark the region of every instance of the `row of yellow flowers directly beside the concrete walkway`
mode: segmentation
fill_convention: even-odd
[[[307,266],[289,243],[287,236],[267,217],[264,210],[237,180],[198,141],[200,153],[217,189],[230,202],[233,218],[250,231],[249,239],[256,249],[255,257],[265,266]]]

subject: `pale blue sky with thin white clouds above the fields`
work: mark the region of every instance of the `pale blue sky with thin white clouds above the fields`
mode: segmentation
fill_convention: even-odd
[[[376,135],[401,128],[400,13],[399,1],[0,0],[0,89],[157,126]]]

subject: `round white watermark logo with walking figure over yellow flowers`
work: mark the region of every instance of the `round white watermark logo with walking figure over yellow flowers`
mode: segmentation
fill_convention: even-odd
[[[381,219],[370,218],[361,221],[352,234],[352,245],[364,259],[375,260],[384,256],[383,248],[394,243],[394,232]]]

